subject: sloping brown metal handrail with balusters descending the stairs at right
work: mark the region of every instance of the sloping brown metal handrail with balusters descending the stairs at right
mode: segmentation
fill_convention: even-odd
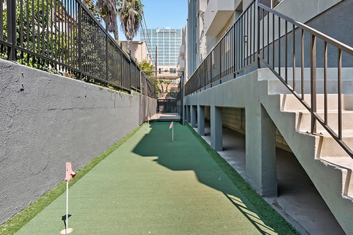
[[[275,76],[287,87],[287,89],[303,104],[303,106],[311,113],[311,134],[316,134],[316,121],[323,126],[325,130],[334,138],[334,140],[346,151],[346,153],[353,158],[353,151],[352,149],[342,140],[342,51],[346,52],[348,55],[353,55],[353,48],[349,47],[348,45],[332,38],[329,37],[328,35],[325,35],[322,32],[319,32],[318,30],[313,29],[310,26],[307,26],[303,23],[300,23],[296,20],[293,20],[292,18],[289,18],[261,3],[258,3],[258,16],[260,16],[260,11],[262,11],[261,17],[258,17],[258,25],[260,25],[260,21],[262,19],[262,25],[263,25],[263,30],[262,30],[262,56],[261,53],[258,52],[258,59],[261,60],[270,70],[275,74]],[[278,39],[275,40],[275,38],[272,38],[272,42],[270,43],[269,40],[267,41],[267,45],[265,45],[264,41],[264,31],[265,31],[265,26],[264,26],[264,21],[265,21],[265,11],[267,11],[267,32],[269,34],[270,27],[269,27],[269,17],[270,13],[273,16],[273,35],[274,35],[274,30],[275,30],[275,25],[274,25],[274,18],[275,16],[278,18],[279,24],[278,26]],[[281,27],[280,27],[280,21],[284,20],[285,21],[285,78],[281,76],[281,65],[280,65],[280,51],[281,51]],[[292,30],[288,32],[288,23],[292,24]],[[295,91],[295,30],[299,28],[299,31],[301,30],[301,96]],[[292,55],[292,61],[293,61],[293,86],[290,86],[288,84],[288,79],[287,79],[287,59],[288,59],[288,48],[287,48],[287,39],[288,39],[288,33],[292,33],[293,37],[293,55]],[[306,103],[304,100],[304,32],[310,33],[310,104]],[[258,35],[258,51],[260,51],[260,35]],[[316,92],[316,38],[320,38],[324,42],[324,55],[323,55],[323,61],[324,61],[324,118],[321,118],[318,113],[317,113],[317,107],[316,107],[316,98],[317,98],[317,92]],[[279,56],[278,56],[278,69],[277,71],[275,70],[275,63],[274,63],[274,46],[275,46],[275,41],[277,41],[277,47],[279,51]],[[269,57],[267,57],[267,60],[264,58],[264,50],[265,47],[267,47],[267,54],[269,54],[269,47],[270,44],[272,44],[272,50],[273,50],[273,62],[272,65],[270,65]],[[337,88],[338,88],[338,134],[330,127],[328,124],[328,86],[327,86],[327,48],[328,44],[333,45],[334,47],[337,48]]]

